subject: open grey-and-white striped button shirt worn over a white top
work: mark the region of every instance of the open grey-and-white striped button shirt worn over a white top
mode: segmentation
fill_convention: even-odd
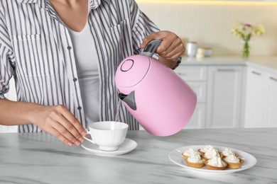
[[[87,21],[99,61],[99,118],[114,120],[116,67],[139,54],[143,38],[158,28],[134,0],[89,0]],[[73,51],[70,33],[48,0],[0,1],[0,98],[13,76],[18,101],[63,104],[87,127]],[[124,105],[119,120],[139,129]],[[19,132],[40,131],[32,124],[19,126]]]

